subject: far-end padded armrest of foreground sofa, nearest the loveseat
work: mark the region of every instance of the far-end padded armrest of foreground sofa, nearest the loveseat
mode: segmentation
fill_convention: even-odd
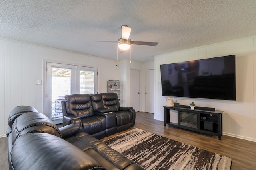
[[[84,128],[75,124],[66,125],[64,127],[60,127],[59,129],[60,135],[63,139],[74,136],[78,132],[84,132]]]

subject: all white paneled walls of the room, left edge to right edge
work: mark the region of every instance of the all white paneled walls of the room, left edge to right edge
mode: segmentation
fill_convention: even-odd
[[[225,135],[256,141],[256,36],[216,43],[183,51],[158,55],[155,62],[140,63],[124,60],[115,61],[82,55],[60,49],[0,38],[0,137],[5,136],[10,110],[18,105],[35,107],[43,113],[44,106],[44,62],[59,61],[83,66],[97,67],[99,71],[98,92],[106,92],[107,81],[118,79],[121,83],[121,101],[126,106],[129,96],[130,69],[141,72],[141,98],[144,111],[144,72],[155,69],[155,119],[164,120],[165,99],[161,96],[160,64],[176,63],[194,59],[236,55],[236,93],[237,101],[202,100],[177,98],[180,104],[191,101],[198,106],[214,107],[223,110],[223,131]],[[119,69],[116,69],[116,64]],[[123,67],[122,67],[123,66]],[[36,85],[36,80],[43,80]]]

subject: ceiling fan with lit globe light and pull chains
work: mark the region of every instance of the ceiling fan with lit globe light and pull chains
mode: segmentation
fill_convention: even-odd
[[[158,44],[155,42],[131,41],[129,39],[129,36],[132,29],[129,28],[127,25],[122,25],[121,29],[122,29],[122,36],[120,39],[118,39],[118,41],[96,41],[96,42],[118,43],[118,47],[121,49],[121,52],[128,50],[132,44],[149,45],[149,46],[156,46]]]

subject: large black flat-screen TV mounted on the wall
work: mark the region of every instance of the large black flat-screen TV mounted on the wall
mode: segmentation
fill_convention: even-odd
[[[236,55],[160,67],[162,96],[236,100]]]

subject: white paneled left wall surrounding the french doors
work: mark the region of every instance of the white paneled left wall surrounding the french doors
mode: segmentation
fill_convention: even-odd
[[[98,68],[99,93],[107,91],[108,80],[118,79],[115,60],[0,38],[0,137],[6,134],[14,107],[28,105],[43,113],[45,61]],[[36,80],[42,80],[42,85],[36,85]]]

